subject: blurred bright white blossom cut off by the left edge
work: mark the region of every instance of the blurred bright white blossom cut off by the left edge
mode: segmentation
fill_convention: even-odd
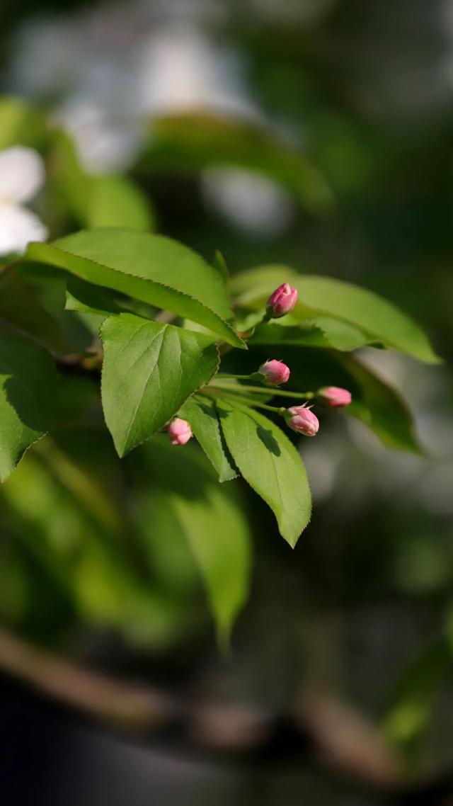
[[[22,252],[30,241],[48,236],[43,222],[23,206],[44,183],[44,163],[32,148],[0,152],[0,256]]]

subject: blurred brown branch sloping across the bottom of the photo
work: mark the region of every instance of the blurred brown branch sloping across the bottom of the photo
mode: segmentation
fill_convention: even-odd
[[[438,803],[438,792],[453,790],[453,775],[445,772],[409,785],[376,727],[320,692],[305,692],[285,718],[243,704],[189,706],[155,688],[115,680],[39,650],[6,629],[0,629],[0,670],[116,729],[154,736],[172,729],[175,739],[247,758],[272,750],[287,759],[303,750],[323,768],[380,791],[393,804],[429,806]]]

